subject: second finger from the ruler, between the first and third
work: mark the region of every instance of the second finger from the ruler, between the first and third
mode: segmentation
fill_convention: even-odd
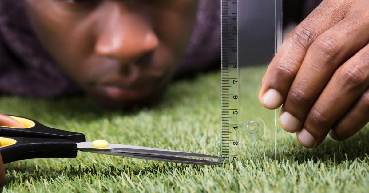
[[[337,68],[369,41],[366,15],[355,14],[334,25],[310,45],[280,116],[282,128],[300,130],[307,113]]]

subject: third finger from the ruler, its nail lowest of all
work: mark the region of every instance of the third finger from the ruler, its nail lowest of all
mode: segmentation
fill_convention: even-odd
[[[321,144],[332,125],[352,106],[369,85],[369,45],[334,73],[307,115],[303,129],[297,132],[302,145]]]

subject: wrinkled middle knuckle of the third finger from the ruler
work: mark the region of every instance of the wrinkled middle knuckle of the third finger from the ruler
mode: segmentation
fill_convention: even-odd
[[[365,73],[357,65],[352,65],[337,70],[342,87],[357,87],[365,82]]]

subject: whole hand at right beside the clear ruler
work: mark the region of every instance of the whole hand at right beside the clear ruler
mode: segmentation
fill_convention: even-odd
[[[369,122],[369,4],[324,0],[285,39],[259,100],[307,148],[344,140]]]

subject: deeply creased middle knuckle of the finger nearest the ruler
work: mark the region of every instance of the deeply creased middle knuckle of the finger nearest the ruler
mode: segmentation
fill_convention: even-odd
[[[306,51],[313,43],[316,32],[305,27],[297,27],[293,30],[290,39],[297,45],[302,46]]]

